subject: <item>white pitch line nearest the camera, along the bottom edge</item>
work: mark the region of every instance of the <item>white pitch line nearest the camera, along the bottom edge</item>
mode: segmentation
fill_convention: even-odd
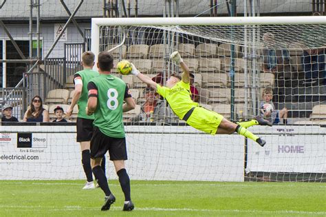
[[[41,206],[12,206],[0,205],[5,210],[19,211],[37,211],[35,209],[46,209],[47,211],[100,211],[100,207],[80,207],[80,206],[65,206],[65,207],[41,207]],[[120,211],[121,207],[111,207],[112,210]],[[189,208],[160,208],[160,207],[136,207],[136,211],[196,211],[196,212],[217,212],[217,213],[248,213],[248,214],[300,214],[300,215],[320,215],[325,216],[325,211],[296,211],[296,210],[257,210],[257,209],[189,209]]]

